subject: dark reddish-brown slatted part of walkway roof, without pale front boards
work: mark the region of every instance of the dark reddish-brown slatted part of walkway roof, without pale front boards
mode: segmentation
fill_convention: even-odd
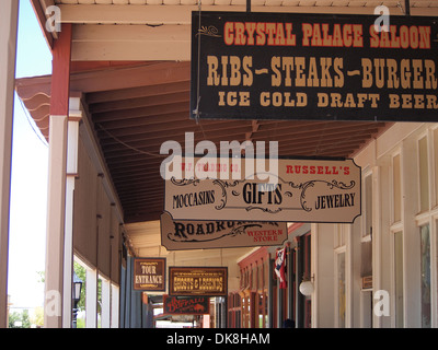
[[[134,65],[134,66],[132,66]],[[160,147],[244,140],[278,141],[280,156],[349,158],[389,127],[384,122],[189,119],[188,62],[73,63],[71,91],[81,92],[94,125],[125,222],[158,220],[163,209]],[[48,137],[50,77],[20,79],[16,91]]]

